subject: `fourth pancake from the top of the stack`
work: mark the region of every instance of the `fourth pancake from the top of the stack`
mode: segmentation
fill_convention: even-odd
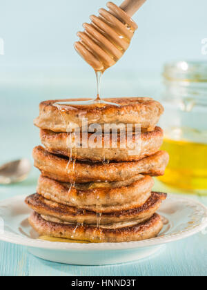
[[[39,177],[37,193],[48,200],[99,213],[123,211],[139,207],[151,195],[154,180],[148,175],[137,175],[122,182],[90,182],[69,184]],[[101,206],[99,206],[101,205]]]

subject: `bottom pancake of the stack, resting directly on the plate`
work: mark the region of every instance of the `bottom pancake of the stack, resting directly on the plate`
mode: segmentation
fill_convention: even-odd
[[[39,235],[55,238],[66,238],[88,242],[130,242],[155,238],[163,227],[160,215],[152,215],[150,220],[134,226],[123,226],[119,229],[104,229],[95,226],[61,224],[48,222],[38,213],[32,213],[30,225]]]

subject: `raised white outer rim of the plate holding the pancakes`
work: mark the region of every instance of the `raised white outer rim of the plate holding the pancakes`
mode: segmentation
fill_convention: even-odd
[[[5,203],[9,204],[10,202],[23,200],[28,195],[16,195],[8,199],[0,201],[1,206],[5,206]],[[63,243],[63,242],[50,242],[46,240],[34,240],[31,238],[23,237],[17,233],[0,233],[0,240],[3,242],[10,242],[12,244],[18,244],[25,247],[39,248],[39,249],[50,249],[58,251],[120,251],[120,250],[130,250],[130,249],[141,249],[146,247],[158,246],[161,244],[168,244],[170,242],[175,242],[178,240],[183,240],[184,238],[189,238],[196,233],[199,233],[203,229],[206,229],[207,226],[207,207],[197,200],[193,200],[190,197],[183,197],[179,194],[168,193],[168,199],[164,203],[169,202],[170,200],[179,202],[183,201],[192,206],[199,206],[204,211],[204,219],[200,224],[197,224],[194,228],[186,229],[182,233],[174,233],[170,235],[163,235],[157,238],[152,238],[143,241],[135,242],[119,242],[119,243],[91,243],[91,244],[77,244],[77,243]]]

